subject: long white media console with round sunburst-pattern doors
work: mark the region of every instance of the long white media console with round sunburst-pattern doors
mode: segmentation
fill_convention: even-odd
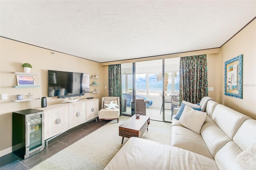
[[[44,140],[98,117],[99,100],[83,99],[75,103],[60,103],[44,108]]]

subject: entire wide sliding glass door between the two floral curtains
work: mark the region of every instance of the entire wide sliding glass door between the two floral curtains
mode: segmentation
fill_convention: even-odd
[[[179,61],[174,58],[122,64],[122,114],[146,111],[152,120],[170,122],[173,108],[178,107]],[[146,102],[146,110],[138,104],[136,108],[141,99]]]

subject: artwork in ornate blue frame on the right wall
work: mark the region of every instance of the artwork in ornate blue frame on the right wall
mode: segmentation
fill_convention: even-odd
[[[230,59],[225,62],[224,84],[225,95],[242,99],[242,70],[243,55]]]

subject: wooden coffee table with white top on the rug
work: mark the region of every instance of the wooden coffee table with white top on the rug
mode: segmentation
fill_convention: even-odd
[[[149,123],[150,117],[143,115],[140,115],[139,118],[136,118],[136,116],[133,115],[130,119],[125,121],[119,126],[119,136],[122,137],[122,144],[124,142],[124,137],[142,137],[146,129],[148,131]]]

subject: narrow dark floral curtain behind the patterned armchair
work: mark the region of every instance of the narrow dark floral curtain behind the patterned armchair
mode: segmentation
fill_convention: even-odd
[[[120,98],[120,113],[122,111],[122,74],[121,64],[108,65],[108,96]]]

